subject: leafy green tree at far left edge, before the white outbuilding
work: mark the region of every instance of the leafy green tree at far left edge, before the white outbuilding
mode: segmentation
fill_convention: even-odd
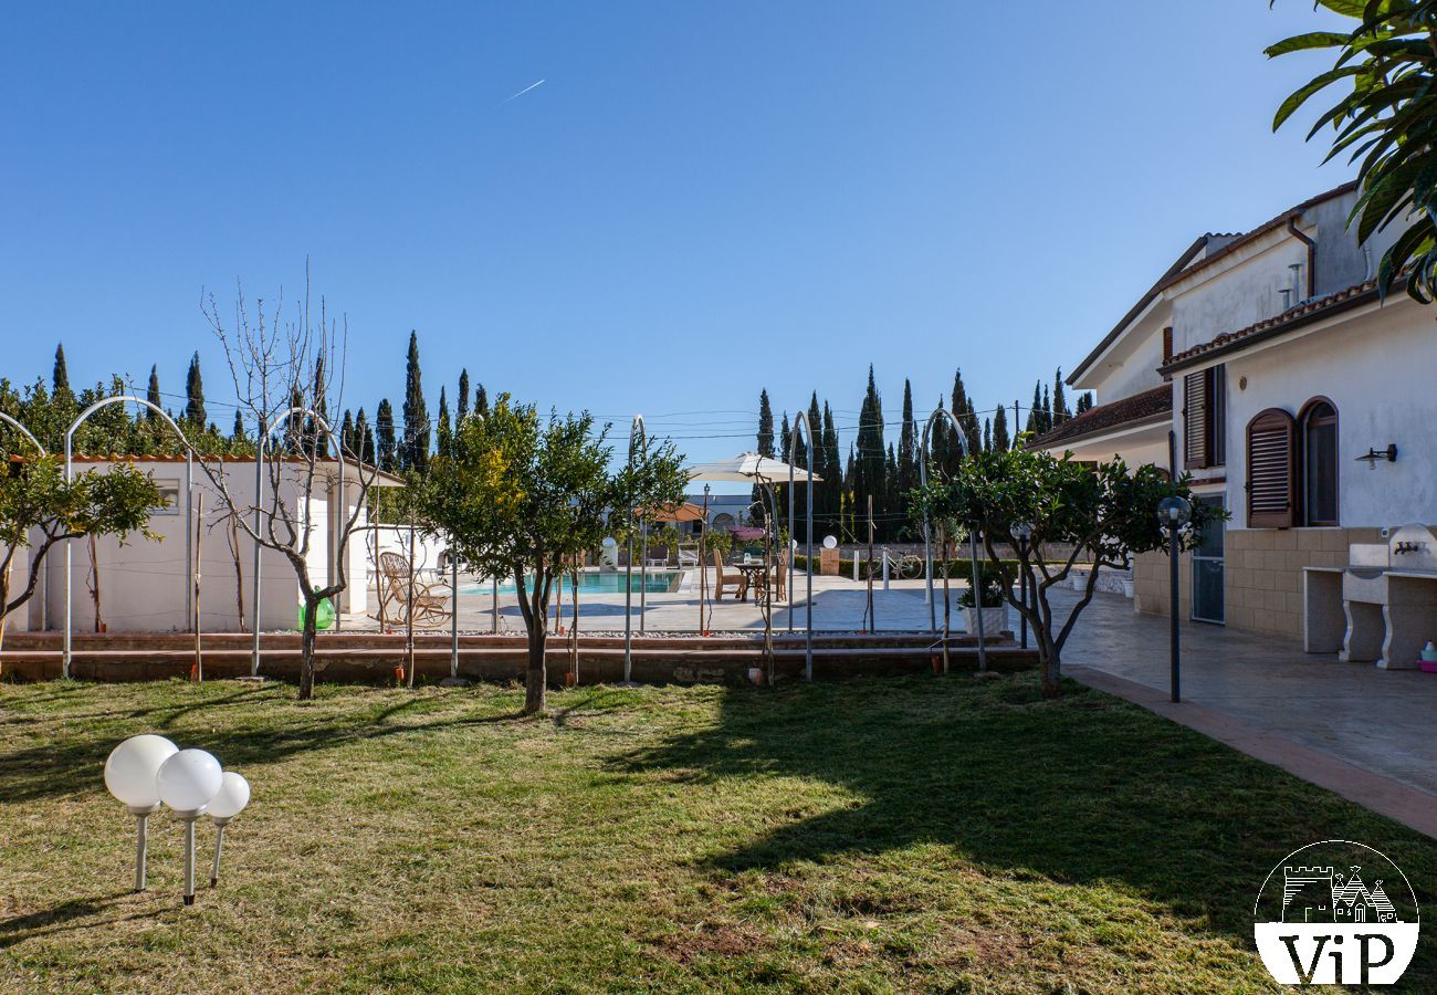
[[[147,473],[116,463],[108,473],[82,473],[69,483],[59,457],[11,457],[0,447],[0,646],[6,620],[32,597],[50,549],[82,536],[116,535],[124,542],[132,532],[147,539],[158,536],[145,528],[149,512],[162,503],[160,489]],[[19,591],[10,590],[11,569],[20,551],[32,549],[30,578]]]

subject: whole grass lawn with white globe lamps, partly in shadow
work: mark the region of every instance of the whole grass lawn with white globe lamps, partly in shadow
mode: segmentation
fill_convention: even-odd
[[[0,686],[0,989],[1270,988],[1267,870],[1433,841],[1032,674],[520,693]],[[250,778],[218,890],[101,769],[160,732]],[[201,825],[208,844],[213,831]],[[203,874],[207,880],[207,874]],[[1433,939],[1404,982],[1437,986]]]

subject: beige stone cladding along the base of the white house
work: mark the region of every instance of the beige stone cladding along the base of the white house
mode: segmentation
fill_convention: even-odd
[[[1348,545],[1382,542],[1377,526],[1319,529],[1227,529],[1223,536],[1223,611],[1230,628],[1302,638],[1302,568],[1346,567]],[[1178,567],[1178,605],[1191,617],[1193,558]],[[1168,559],[1134,559],[1134,610],[1168,614]]]

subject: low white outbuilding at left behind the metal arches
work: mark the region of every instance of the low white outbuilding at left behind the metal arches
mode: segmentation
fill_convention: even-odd
[[[76,456],[75,472],[103,473],[122,457]],[[253,613],[254,544],[243,529],[231,529],[223,513],[218,490],[198,466],[193,473],[194,521],[185,515],[182,456],[145,456],[126,460],[138,470],[152,474],[165,508],[157,508],[149,518],[149,529],[158,541],[132,535],[125,545],[114,536],[96,539],[93,561],[85,539],[70,542],[70,615],[72,631],[91,633],[95,625],[95,595],[99,590],[99,617],[106,631],[184,631],[191,627],[190,585],[193,578],[187,555],[198,554],[200,611],[204,631],[226,633],[247,628]],[[216,464],[211,463],[211,467]],[[312,582],[348,575],[349,587],[339,597],[341,617],[364,615],[369,607],[368,579],[372,574],[374,549],[378,541],[368,528],[366,512],[361,515],[361,531],[346,549],[343,562],[335,562],[331,549],[336,546],[342,516],[339,513],[339,466],[335,460],[320,462],[323,483],[309,503],[315,522],[310,538],[309,571]],[[226,486],[243,506],[254,503],[253,457],[227,457],[223,463]],[[300,496],[299,470],[295,495]],[[381,473],[379,487],[402,486],[402,480]],[[362,496],[356,467],[345,466],[343,506],[351,512]],[[270,496],[266,483],[263,493]],[[200,506],[203,502],[203,515]],[[188,542],[187,542],[187,532]],[[392,542],[392,539],[391,539]],[[19,559],[19,558],[17,558]],[[65,546],[55,546],[42,569],[45,577],[34,597],[13,618],[11,631],[60,630],[65,627]],[[299,584],[289,562],[277,552],[263,549],[260,556],[260,628],[295,628],[299,607]],[[29,578],[29,562],[16,565],[11,588]],[[240,623],[240,604],[244,624]]]

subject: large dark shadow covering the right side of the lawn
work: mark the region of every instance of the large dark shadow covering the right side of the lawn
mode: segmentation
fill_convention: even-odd
[[[777,828],[707,857],[720,874],[938,844],[997,877],[1131,890],[1249,940],[1267,870],[1299,845],[1361,840],[1414,881],[1437,870],[1415,833],[1072,682],[1045,702],[1032,674],[730,690],[714,726],[618,765],[861,799],[813,815],[780,802]]]

